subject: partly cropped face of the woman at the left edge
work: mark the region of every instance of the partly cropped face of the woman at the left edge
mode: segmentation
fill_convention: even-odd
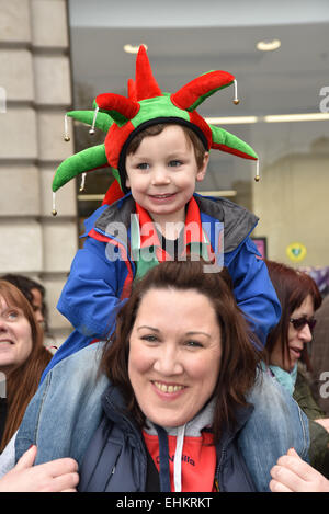
[[[21,366],[32,351],[29,320],[18,307],[10,307],[0,296],[0,372],[10,373]]]

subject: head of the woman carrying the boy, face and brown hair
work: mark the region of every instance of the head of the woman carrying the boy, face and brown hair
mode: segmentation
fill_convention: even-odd
[[[204,273],[202,262],[171,262],[137,283],[118,313],[103,367],[141,425],[146,418],[164,426],[184,424],[216,391],[218,442],[224,426],[235,424],[236,408],[247,404],[256,379],[260,356],[249,332],[227,272]],[[170,386],[179,390],[171,392]]]

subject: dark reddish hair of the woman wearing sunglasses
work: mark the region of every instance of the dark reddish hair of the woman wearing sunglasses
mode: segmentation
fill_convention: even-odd
[[[274,346],[281,344],[282,358],[284,359],[285,356],[288,357],[287,342],[292,313],[300,307],[308,295],[311,297],[314,310],[317,310],[322,302],[322,297],[315,281],[306,273],[280,262],[265,261],[265,263],[282,310],[279,323],[268,336],[265,349],[270,358]],[[300,361],[308,370],[311,370],[306,345],[304,345]]]

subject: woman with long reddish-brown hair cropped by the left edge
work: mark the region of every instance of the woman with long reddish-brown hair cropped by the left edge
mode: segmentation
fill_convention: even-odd
[[[5,375],[5,415],[2,416],[2,452],[16,432],[35,393],[41,375],[52,358],[43,344],[43,331],[32,306],[11,283],[0,279],[0,372]]]

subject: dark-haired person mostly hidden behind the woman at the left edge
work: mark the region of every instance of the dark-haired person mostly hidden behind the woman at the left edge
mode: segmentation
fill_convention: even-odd
[[[43,327],[44,331],[48,331],[48,311],[47,305],[45,302],[46,290],[42,284],[36,281],[33,281],[29,276],[24,275],[15,275],[13,273],[8,273],[3,275],[2,281],[10,282],[13,284],[18,289],[20,289],[25,298],[32,305],[34,316],[41,325]]]

